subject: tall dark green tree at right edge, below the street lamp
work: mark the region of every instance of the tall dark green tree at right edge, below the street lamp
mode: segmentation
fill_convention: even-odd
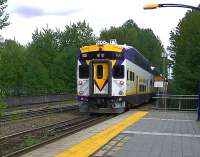
[[[197,93],[200,80],[200,12],[189,11],[170,34],[173,63],[172,92]]]

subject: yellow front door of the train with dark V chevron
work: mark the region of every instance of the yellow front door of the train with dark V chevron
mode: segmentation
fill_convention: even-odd
[[[110,62],[92,62],[91,94],[110,95],[111,75]]]

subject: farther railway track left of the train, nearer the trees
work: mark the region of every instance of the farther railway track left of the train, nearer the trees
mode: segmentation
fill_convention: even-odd
[[[68,105],[64,107],[53,107],[53,108],[45,107],[39,110],[28,109],[25,112],[6,114],[0,118],[0,122],[7,122],[11,120],[16,120],[16,119],[44,116],[44,115],[52,114],[52,113],[67,112],[71,110],[77,110],[78,108],[79,108],[78,105]]]

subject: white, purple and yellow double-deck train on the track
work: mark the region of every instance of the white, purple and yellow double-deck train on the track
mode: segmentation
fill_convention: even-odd
[[[83,46],[77,57],[80,112],[122,113],[155,94],[150,62],[134,47],[99,41]]]

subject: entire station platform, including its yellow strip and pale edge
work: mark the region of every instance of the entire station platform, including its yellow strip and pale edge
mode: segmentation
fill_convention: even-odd
[[[129,111],[23,157],[200,157],[195,112]]]

